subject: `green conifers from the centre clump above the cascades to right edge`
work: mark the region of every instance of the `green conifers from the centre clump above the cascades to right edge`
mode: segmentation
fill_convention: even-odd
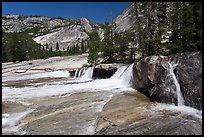
[[[104,24],[104,38],[89,34],[88,62],[96,64],[134,62],[135,54],[170,55],[202,49],[202,3],[134,2],[130,10],[133,27],[114,33],[115,24]]]

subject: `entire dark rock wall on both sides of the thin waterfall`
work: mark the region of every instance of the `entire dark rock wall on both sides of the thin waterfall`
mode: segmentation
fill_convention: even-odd
[[[178,104],[175,78],[179,83],[184,105],[202,109],[202,57],[200,52],[168,57],[149,56],[134,63],[133,87],[151,101]],[[175,65],[170,75],[168,62]]]

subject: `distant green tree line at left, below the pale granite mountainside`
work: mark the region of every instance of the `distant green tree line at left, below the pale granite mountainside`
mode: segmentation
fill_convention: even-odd
[[[55,49],[48,44],[37,44],[26,31],[5,33],[2,31],[2,62],[17,62],[34,59],[46,59],[54,56],[69,56],[85,53],[86,42],[67,46],[60,50],[57,42]]]

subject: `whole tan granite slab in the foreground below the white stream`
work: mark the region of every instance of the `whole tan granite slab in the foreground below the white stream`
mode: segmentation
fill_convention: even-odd
[[[18,124],[29,135],[201,135],[202,116],[191,108],[150,102],[137,91],[80,92],[3,103],[3,113],[34,109]],[[32,103],[31,103],[32,102]],[[173,110],[174,109],[174,110]],[[192,113],[183,109],[189,109]],[[3,134],[18,134],[3,130]]]

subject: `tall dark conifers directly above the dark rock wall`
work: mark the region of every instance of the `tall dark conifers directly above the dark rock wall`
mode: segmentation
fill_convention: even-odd
[[[131,12],[143,56],[201,50],[201,2],[135,2]]]

